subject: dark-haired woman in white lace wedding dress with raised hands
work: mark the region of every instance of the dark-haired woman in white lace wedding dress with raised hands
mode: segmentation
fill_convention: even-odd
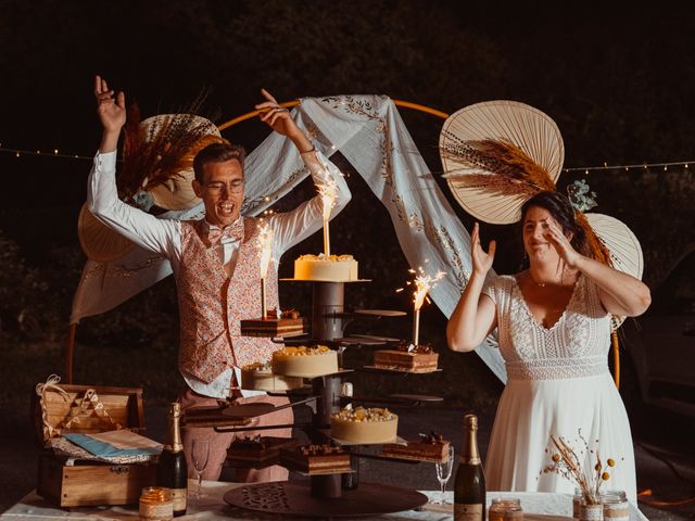
[[[610,315],[634,317],[650,303],[639,279],[593,258],[569,200],[543,191],[521,208],[529,269],[485,284],[495,242],[471,234],[472,272],[447,326],[450,348],[475,350],[494,329],[507,384],[492,429],[485,481],[493,491],[573,492],[554,472],[551,434],[589,443],[616,461],[607,488],[636,500],[634,453],[624,406],[608,370]],[[584,468],[596,454],[586,450]],[[589,467],[586,467],[589,466]]]

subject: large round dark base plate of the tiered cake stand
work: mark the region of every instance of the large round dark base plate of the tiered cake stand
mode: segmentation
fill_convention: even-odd
[[[379,483],[359,483],[340,497],[314,497],[307,484],[291,481],[256,483],[233,488],[225,501],[238,508],[305,518],[371,518],[412,510],[427,503],[417,491]]]

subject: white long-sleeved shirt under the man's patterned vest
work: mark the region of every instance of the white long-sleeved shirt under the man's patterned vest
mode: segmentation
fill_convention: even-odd
[[[301,154],[315,185],[323,185],[329,178],[336,182],[337,196],[331,218],[350,202],[348,183],[340,170],[320,152]],[[327,168],[325,168],[325,166]],[[132,207],[118,199],[116,188],[116,152],[97,153],[87,183],[87,205],[89,211],[104,225],[123,234],[146,250],[166,256],[174,277],[178,278],[181,265],[181,223],[157,219],[155,216]],[[324,225],[323,203],[319,195],[312,198],[291,212],[273,214],[267,218],[273,230],[273,258],[279,260],[290,247],[318,231]],[[211,228],[214,228],[211,225]],[[215,246],[227,275],[233,271],[239,252],[239,241],[223,237]],[[274,263],[277,270],[278,263]],[[184,372],[186,383],[198,394],[224,398],[230,394],[232,368],[228,368],[211,383],[205,383],[192,374]],[[241,381],[241,369],[233,367],[237,381]],[[264,394],[242,391],[244,396]]]

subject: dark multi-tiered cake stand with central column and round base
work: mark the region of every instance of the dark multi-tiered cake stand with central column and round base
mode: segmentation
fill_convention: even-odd
[[[286,279],[288,280],[288,279]],[[289,279],[294,280],[294,279]],[[312,307],[312,343],[329,343],[338,347],[339,366],[342,367],[342,352],[350,345],[381,345],[387,341],[396,340],[374,335],[344,336],[345,326],[358,318],[382,318],[404,316],[403,312],[364,309],[346,313],[344,308],[344,290],[346,282],[311,281],[313,284]],[[363,282],[354,281],[354,282]],[[303,343],[306,343],[304,340]],[[369,369],[375,371],[375,369]],[[383,369],[378,372],[394,372]],[[390,405],[419,405],[428,402],[441,402],[434,396],[394,395],[390,398],[369,398],[346,395],[342,393],[343,380],[352,369],[341,369],[333,374],[312,379],[311,396],[293,399],[283,407],[294,407],[301,404],[313,406],[311,424],[294,423],[292,427],[305,429],[312,443],[328,443],[331,441],[330,416],[340,410],[349,402],[388,403]],[[401,373],[402,374],[402,373]],[[288,392],[296,398],[307,390]],[[266,407],[267,406],[267,407]],[[283,408],[282,407],[282,408]],[[194,420],[197,425],[215,427],[218,431],[258,430],[250,427],[253,417],[263,416],[279,410],[269,404],[254,404],[244,407],[231,405],[224,410],[211,411],[210,422]],[[203,412],[203,411],[201,411]],[[220,416],[217,420],[213,416]],[[193,418],[190,418],[193,420]],[[187,419],[187,423],[191,422]],[[277,429],[268,425],[266,429]],[[358,446],[341,443],[351,453],[351,471],[336,473],[311,473],[309,484],[301,482],[271,482],[248,484],[225,494],[225,500],[231,506],[274,514],[302,516],[307,518],[340,518],[340,517],[374,517],[383,513],[410,510],[427,503],[427,496],[417,491],[379,483],[359,483],[359,459],[389,459],[382,456],[358,452]],[[399,460],[403,461],[403,460]],[[410,462],[414,461],[404,461]]]

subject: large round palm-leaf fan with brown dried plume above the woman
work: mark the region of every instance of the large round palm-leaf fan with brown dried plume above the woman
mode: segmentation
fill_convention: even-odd
[[[546,114],[497,100],[451,115],[440,134],[440,156],[452,193],[466,212],[506,225],[519,220],[531,195],[555,190],[565,145]]]

